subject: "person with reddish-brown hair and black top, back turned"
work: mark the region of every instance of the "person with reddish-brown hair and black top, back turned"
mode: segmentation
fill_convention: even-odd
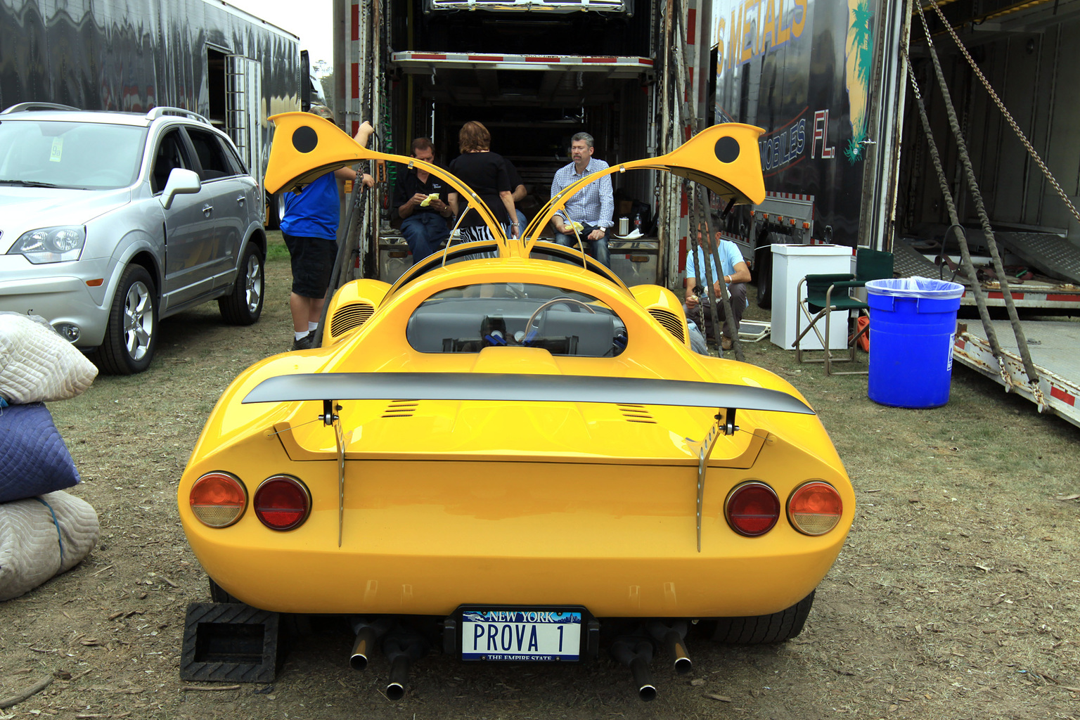
[[[513,189],[510,187],[510,176],[507,175],[502,155],[490,151],[491,134],[478,122],[467,122],[458,134],[458,146],[461,154],[450,162],[450,172],[480,195],[503,229],[510,228],[508,237],[517,237],[521,228],[511,195]],[[461,217],[459,209],[464,213],[468,208],[468,200],[461,199],[456,192],[447,195],[447,204],[458,217]],[[463,217],[460,228],[465,242],[492,240],[487,226],[475,210]]]

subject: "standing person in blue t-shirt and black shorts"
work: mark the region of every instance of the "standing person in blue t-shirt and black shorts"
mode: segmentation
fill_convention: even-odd
[[[322,105],[309,111],[334,122],[334,113]],[[362,146],[374,128],[364,122],[355,140]],[[293,291],[288,309],[293,314],[293,350],[307,350],[315,344],[315,329],[326,301],[334,260],[337,258],[337,231],[341,216],[338,180],[363,180],[372,187],[372,176],[351,167],[340,167],[308,184],[300,192],[284,195],[285,214],[281,234],[293,266]]]

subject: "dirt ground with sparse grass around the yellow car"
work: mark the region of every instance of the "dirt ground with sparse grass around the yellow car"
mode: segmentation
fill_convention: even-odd
[[[0,603],[0,705],[52,678],[0,720],[1080,718],[1080,430],[963,367],[943,408],[880,407],[865,376],[825,378],[768,341],[746,359],[806,394],[859,501],[796,639],[691,642],[690,674],[653,664],[651,704],[606,655],[566,666],[429,655],[391,703],[386,662],[351,670],[350,638],[318,623],[272,684],[180,681],[185,609],[208,593],[175,489],[227,383],[288,348],[287,263],[268,275],[257,325],[228,327],[214,304],[170,318],[149,371],[50,405],[82,473],[72,492],[96,508],[102,538],[70,572]]]

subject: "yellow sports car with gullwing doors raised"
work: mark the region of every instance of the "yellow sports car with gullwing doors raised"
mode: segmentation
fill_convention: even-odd
[[[268,190],[361,160],[308,113],[273,118]],[[761,131],[716,125],[612,166],[760,202]],[[654,651],[686,636],[796,636],[850,528],[854,494],[786,381],[691,352],[679,299],[581,253],[451,245],[393,286],[350,282],[322,344],[275,355],[221,396],[180,480],[180,519],[217,598],[348,615],[351,662],[431,647],[467,661],[578,661],[600,648],[654,695]],[[205,677],[205,676],[204,676]]]

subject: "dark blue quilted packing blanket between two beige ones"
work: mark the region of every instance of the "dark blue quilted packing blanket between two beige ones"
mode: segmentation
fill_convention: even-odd
[[[43,403],[0,409],[0,502],[78,484],[79,471]]]

